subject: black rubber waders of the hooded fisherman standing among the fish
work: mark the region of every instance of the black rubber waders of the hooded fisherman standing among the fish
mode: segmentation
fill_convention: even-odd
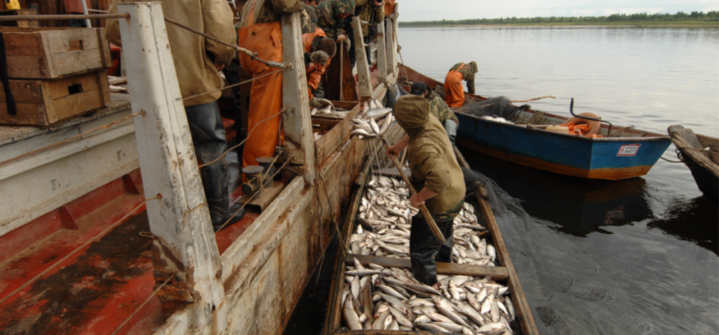
[[[446,243],[439,243],[432,230],[427,225],[422,214],[412,217],[412,227],[409,236],[409,255],[412,263],[412,274],[414,278],[428,286],[437,283],[437,263],[436,261],[449,263],[452,260],[452,222],[443,220],[435,220],[437,227],[444,235]],[[441,250],[441,255],[438,253]],[[441,259],[435,260],[435,256]],[[449,260],[447,260],[449,258]]]

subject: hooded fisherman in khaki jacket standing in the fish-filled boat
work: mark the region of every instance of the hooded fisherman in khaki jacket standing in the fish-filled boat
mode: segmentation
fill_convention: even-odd
[[[446,242],[440,244],[421,213],[412,217],[409,253],[412,273],[421,283],[437,283],[436,262],[452,263],[452,221],[464,204],[464,176],[452,144],[439,120],[429,113],[429,102],[404,95],[395,103],[394,115],[408,134],[407,153],[411,182],[420,190],[410,197],[412,207],[425,204]],[[387,153],[402,150],[397,143]]]

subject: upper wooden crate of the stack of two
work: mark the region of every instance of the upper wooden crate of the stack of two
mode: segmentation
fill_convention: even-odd
[[[104,28],[2,27],[7,75],[58,78],[112,66]]]

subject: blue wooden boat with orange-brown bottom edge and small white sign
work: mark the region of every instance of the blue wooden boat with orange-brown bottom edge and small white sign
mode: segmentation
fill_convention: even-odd
[[[404,65],[403,70],[408,74],[414,72],[408,77],[426,80]],[[440,95],[444,92],[436,80],[428,80],[427,85],[439,88],[436,91]],[[514,124],[485,120],[459,111],[455,114],[459,119],[457,143],[461,146],[516,164],[589,179],[643,176],[670,144],[669,136],[664,134],[621,126],[613,126],[609,133],[605,124],[600,130],[604,138],[546,131],[543,126],[557,126],[569,118],[539,110],[520,110],[508,120]]]

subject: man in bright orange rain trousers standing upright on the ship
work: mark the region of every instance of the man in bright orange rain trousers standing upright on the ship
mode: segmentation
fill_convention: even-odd
[[[257,52],[257,57],[262,60],[282,62],[281,15],[303,9],[301,0],[247,1],[242,8],[237,44]],[[283,141],[283,133],[280,131],[282,72],[260,77],[278,69],[251,60],[242,53],[239,54],[239,63],[252,78],[257,78],[252,81],[249,91],[248,133],[242,153],[242,167],[246,167],[257,165],[255,159],[258,157],[275,156],[275,148]],[[244,174],[242,181],[247,181]]]

